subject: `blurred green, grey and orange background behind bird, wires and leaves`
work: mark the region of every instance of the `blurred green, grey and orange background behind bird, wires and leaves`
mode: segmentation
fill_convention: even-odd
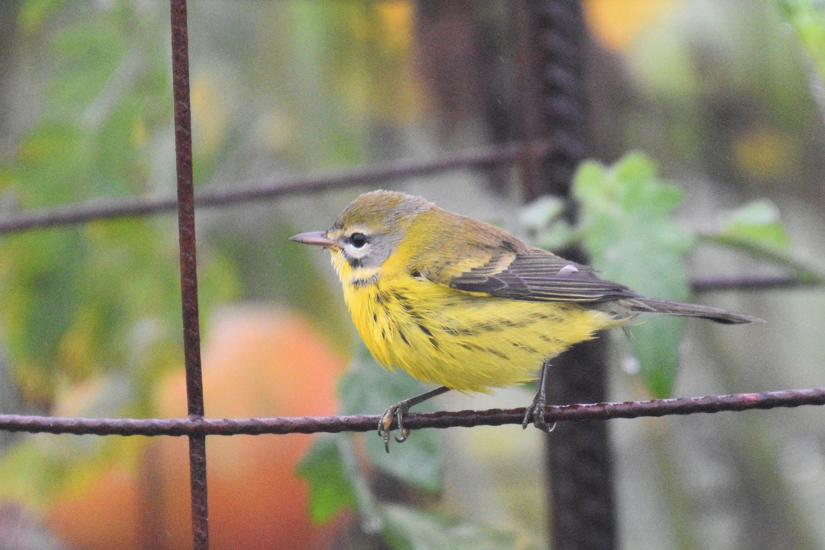
[[[191,2],[196,186],[517,139],[515,3]],[[678,218],[696,231],[713,228],[727,209],[771,200],[794,256],[820,269],[823,2],[582,3],[593,38],[594,157],[653,157],[684,190]],[[168,26],[162,0],[0,2],[0,214],[172,194]],[[449,172],[392,188],[529,238],[517,176]],[[365,359],[328,259],[286,237],[328,227],[363,190],[198,212],[208,416],[339,410],[338,377],[352,358]],[[0,239],[0,410],[185,415],[175,223],[163,214]],[[775,272],[712,247],[690,262],[696,275]],[[697,299],[768,323],[688,323],[673,393],[823,384],[821,290]],[[610,338],[611,399],[649,397],[624,336]],[[446,396],[437,407],[520,407],[531,395],[507,388]],[[610,430],[622,548],[825,548],[822,411],[611,421]],[[403,447],[391,455],[395,476],[364,467],[370,498],[436,517],[443,530],[435,542],[413,543],[370,535],[363,510],[313,523],[308,482],[295,473],[309,436],[210,438],[214,548],[439,548],[475,534],[498,548],[546,548],[535,430],[452,429],[431,438],[440,480],[433,491],[401,481],[422,468],[404,462]],[[362,463],[381,450],[377,438],[352,441]],[[2,435],[0,501],[0,548],[191,544],[185,440]],[[429,529],[394,510],[398,524]]]

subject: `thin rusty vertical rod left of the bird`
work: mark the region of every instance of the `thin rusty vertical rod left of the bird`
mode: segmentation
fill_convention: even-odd
[[[175,157],[177,163],[177,220],[181,250],[181,305],[186,362],[186,403],[192,419],[204,416],[200,374],[200,323],[195,247],[195,194],[192,183],[191,106],[189,99],[189,32],[186,0],[171,0],[172,87],[175,101]],[[192,537],[195,550],[209,548],[209,512],[206,505],[206,439],[189,438],[189,475],[192,499]]]

